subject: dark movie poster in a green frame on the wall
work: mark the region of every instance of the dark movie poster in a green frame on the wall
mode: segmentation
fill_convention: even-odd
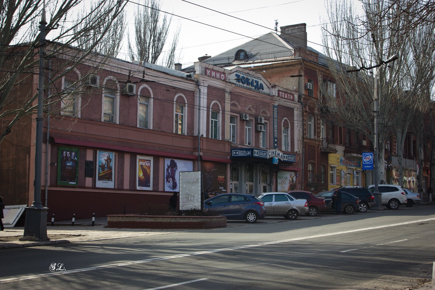
[[[59,147],[57,167],[57,184],[77,185],[78,177],[78,149],[73,147]]]

